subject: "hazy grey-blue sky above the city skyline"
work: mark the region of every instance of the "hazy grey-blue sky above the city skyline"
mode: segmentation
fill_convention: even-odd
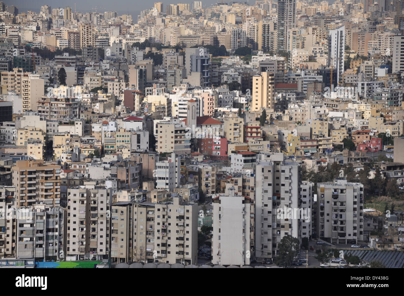
[[[233,0],[236,2],[235,0]],[[246,0],[245,0],[246,1]],[[6,0],[3,2],[8,5],[15,5],[19,9],[19,12],[25,12],[27,10],[40,11],[42,5],[50,5],[51,8],[70,6],[74,10],[74,3],[76,3],[77,11],[89,12],[95,10],[97,6],[97,12],[104,12],[107,10],[117,11],[120,14],[123,13],[139,13],[139,11],[151,8],[154,6],[154,2],[163,2],[166,4],[174,3],[192,3],[193,0],[90,0],[90,1],[78,1],[78,0]],[[202,6],[216,3],[217,0],[202,0]],[[225,2],[225,1],[223,1]],[[251,3],[255,3],[255,0],[251,0]],[[164,8],[165,10],[165,8]],[[135,17],[134,17],[135,18]]]

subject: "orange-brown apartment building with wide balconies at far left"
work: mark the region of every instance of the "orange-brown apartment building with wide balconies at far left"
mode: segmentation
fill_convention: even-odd
[[[59,204],[60,168],[44,164],[43,160],[17,161],[11,168],[16,206],[30,206],[36,202]]]

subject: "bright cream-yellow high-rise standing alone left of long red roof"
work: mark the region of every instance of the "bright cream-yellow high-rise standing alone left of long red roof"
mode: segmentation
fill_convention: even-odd
[[[261,72],[261,75],[252,76],[251,107],[252,111],[274,109],[275,75],[270,72]]]

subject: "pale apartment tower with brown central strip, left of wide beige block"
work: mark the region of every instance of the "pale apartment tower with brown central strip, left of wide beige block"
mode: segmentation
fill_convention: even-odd
[[[108,258],[110,202],[110,189],[95,182],[67,189],[66,260]]]

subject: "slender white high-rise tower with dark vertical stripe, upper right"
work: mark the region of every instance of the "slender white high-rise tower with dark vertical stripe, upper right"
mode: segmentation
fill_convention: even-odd
[[[344,73],[345,58],[345,26],[330,30],[328,36],[328,65],[337,69],[337,84],[343,82],[342,75]]]

